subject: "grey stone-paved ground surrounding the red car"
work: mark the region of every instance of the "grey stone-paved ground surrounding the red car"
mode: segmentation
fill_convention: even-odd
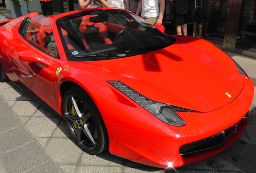
[[[0,14],[0,21],[7,15]],[[256,85],[256,58],[228,53]],[[255,173],[256,96],[242,136],[215,157],[176,170],[163,170],[104,152],[92,156],[79,149],[63,119],[12,82],[0,82],[0,173]]]

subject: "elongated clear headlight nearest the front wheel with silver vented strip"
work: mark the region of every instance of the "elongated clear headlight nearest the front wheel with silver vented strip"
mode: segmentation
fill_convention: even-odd
[[[140,106],[145,108],[151,114],[155,115],[161,121],[172,125],[172,126],[184,126],[186,123],[182,120],[182,118],[175,112],[175,109],[171,105],[166,105],[163,103],[159,103],[144,97],[138,92],[134,91],[127,85],[123,84],[120,81],[107,81],[109,84],[113,85],[116,89],[130,97],[130,99],[134,100]]]

